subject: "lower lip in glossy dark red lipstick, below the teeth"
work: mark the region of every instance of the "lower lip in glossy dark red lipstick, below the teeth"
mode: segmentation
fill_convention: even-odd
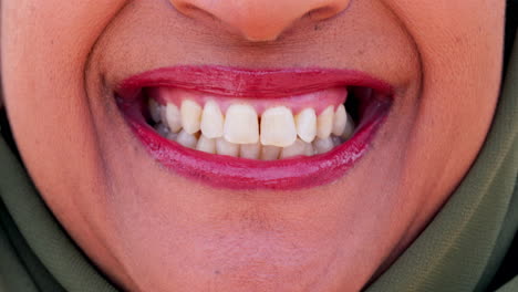
[[[123,102],[120,106],[151,155],[178,175],[218,188],[294,190],[322,186],[343,177],[367,153],[390,107],[387,101],[374,103],[364,113],[353,137],[331,152],[273,161],[213,155],[183,147],[159,136],[147,125],[136,104]]]

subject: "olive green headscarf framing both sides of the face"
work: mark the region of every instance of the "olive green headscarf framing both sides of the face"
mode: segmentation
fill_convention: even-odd
[[[365,291],[487,290],[518,229],[517,56],[468,175],[417,240]],[[0,199],[1,292],[116,290],[62,230],[2,138]],[[518,291],[518,278],[498,291]]]

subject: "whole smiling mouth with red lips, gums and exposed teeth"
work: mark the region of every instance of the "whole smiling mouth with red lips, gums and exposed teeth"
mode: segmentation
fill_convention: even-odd
[[[158,69],[123,81],[118,108],[152,157],[200,184],[300,189],[367,153],[393,90],[349,70]]]

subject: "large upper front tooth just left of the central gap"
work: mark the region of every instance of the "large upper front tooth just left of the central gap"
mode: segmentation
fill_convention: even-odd
[[[247,104],[232,104],[227,109],[224,127],[225,139],[235,144],[252,144],[259,140],[256,109]]]

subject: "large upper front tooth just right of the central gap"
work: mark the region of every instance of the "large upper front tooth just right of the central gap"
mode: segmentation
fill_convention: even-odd
[[[286,147],[297,139],[291,111],[286,106],[268,108],[261,115],[261,144]]]

